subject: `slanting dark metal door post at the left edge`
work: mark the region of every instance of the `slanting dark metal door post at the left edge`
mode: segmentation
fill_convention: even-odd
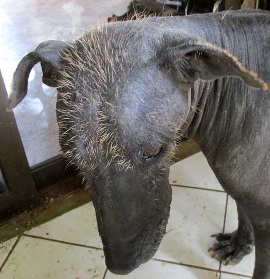
[[[0,72],[0,162],[8,188],[0,194],[0,219],[39,201],[14,114],[6,110],[7,96]]]

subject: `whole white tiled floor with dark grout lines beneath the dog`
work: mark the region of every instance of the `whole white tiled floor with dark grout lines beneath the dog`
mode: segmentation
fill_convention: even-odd
[[[160,249],[128,276],[107,271],[94,207],[88,203],[27,231],[18,243],[15,238],[0,245],[0,279],[251,278],[254,253],[225,267],[207,252],[214,242],[211,234],[224,225],[228,232],[237,227],[237,212],[202,153],[173,165],[170,181],[171,213]]]

